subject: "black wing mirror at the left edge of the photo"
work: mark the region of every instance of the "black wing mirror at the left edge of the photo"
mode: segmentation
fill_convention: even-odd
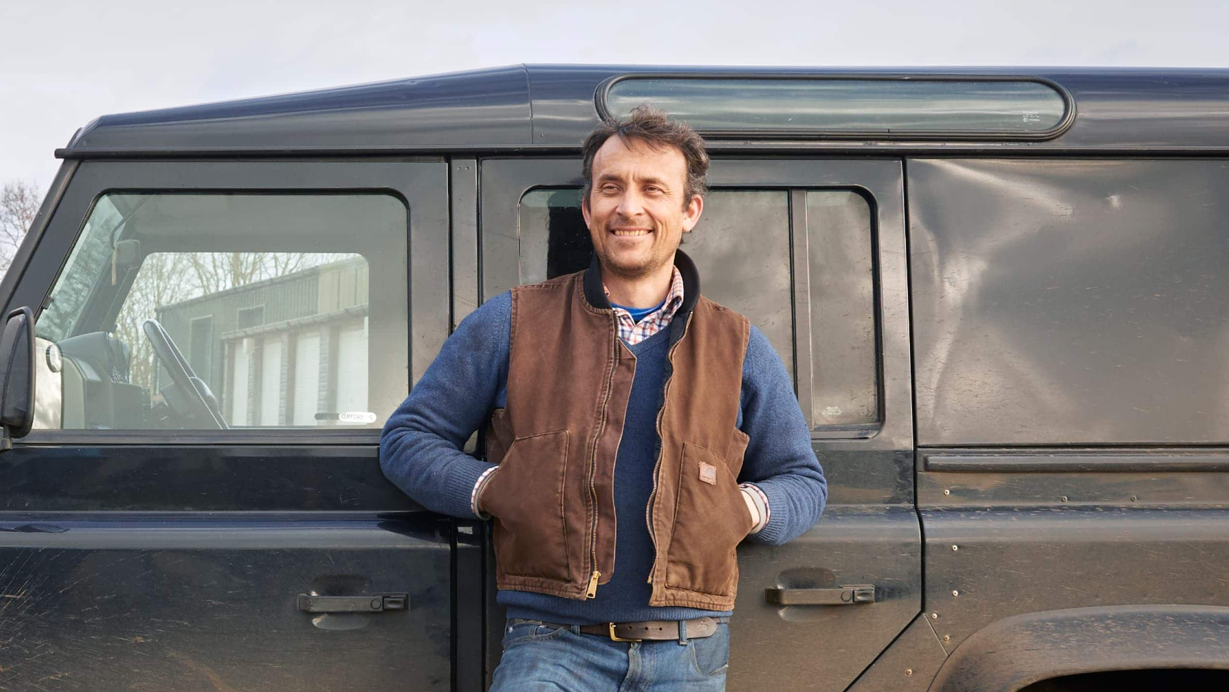
[[[18,307],[0,334],[0,452],[34,424],[34,311]]]

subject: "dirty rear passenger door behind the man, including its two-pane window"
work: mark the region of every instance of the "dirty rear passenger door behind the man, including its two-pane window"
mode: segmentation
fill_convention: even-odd
[[[479,173],[479,299],[589,265],[579,160]],[[777,348],[831,493],[791,543],[740,547],[729,687],[844,690],[921,608],[901,163],[714,160],[710,183],[683,250]]]

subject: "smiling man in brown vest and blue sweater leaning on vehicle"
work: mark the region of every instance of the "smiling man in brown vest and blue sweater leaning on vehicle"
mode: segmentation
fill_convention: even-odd
[[[493,690],[724,690],[735,547],[789,541],[823,510],[784,365],[678,251],[708,163],[648,107],[594,130],[592,265],[482,305],[385,425],[391,481],[494,517],[509,619]],[[493,463],[460,451],[488,419]]]

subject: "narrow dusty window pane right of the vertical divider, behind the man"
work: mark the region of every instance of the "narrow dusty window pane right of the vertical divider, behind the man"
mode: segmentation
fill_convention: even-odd
[[[812,425],[879,420],[870,206],[849,191],[806,193]]]

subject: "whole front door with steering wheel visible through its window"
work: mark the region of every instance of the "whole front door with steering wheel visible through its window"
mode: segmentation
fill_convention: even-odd
[[[65,165],[9,296],[38,381],[0,456],[0,688],[452,687],[450,524],[377,458],[447,334],[446,184]]]

